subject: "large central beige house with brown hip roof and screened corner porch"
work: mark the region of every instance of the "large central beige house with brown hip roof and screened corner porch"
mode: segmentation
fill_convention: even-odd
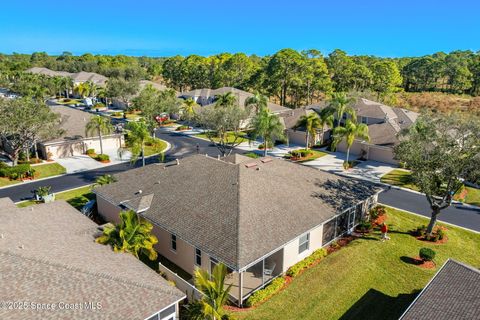
[[[115,175],[95,189],[99,214],[150,221],[155,249],[189,274],[222,262],[242,305],[289,267],[350,232],[375,205],[368,182],[273,158],[194,155]]]

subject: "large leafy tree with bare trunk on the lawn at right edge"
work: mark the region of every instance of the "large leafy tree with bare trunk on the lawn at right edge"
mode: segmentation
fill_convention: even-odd
[[[450,206],[463,181],[480,178],[480,121],[458,115],[424,114],[400,135],[395,157],[411,170],[412,180],[432,210],[432,235],[440,211]]]

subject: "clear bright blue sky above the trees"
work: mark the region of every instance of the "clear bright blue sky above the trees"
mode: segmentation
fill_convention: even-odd
[[[479,16],[478,0],[15,0],[0,5],[0,52],[419,56],[480,50]]]

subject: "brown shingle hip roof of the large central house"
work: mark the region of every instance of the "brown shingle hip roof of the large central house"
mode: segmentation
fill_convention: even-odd
[[[267,159],[195,155],[120,173],[95,192],[116,205],[153,193],[143,216],[238,270],[379,191]]]

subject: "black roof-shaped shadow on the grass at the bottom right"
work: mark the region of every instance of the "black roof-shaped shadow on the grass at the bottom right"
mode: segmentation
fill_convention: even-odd
[[[420,290],[415,290],[412,293],[402,293],[397,297],[391,297],[376,289],[370,289],[340,317],[340,320],[396,320],[419,292]]]

